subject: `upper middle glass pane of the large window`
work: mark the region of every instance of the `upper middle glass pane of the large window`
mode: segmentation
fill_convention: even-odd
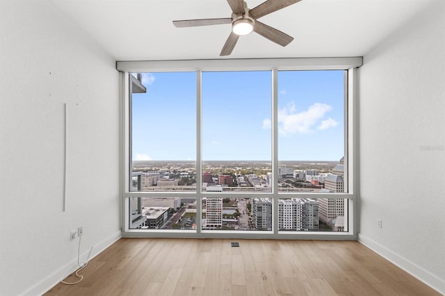
[[[202,190],[271,192],[271,72],[202,73]]]

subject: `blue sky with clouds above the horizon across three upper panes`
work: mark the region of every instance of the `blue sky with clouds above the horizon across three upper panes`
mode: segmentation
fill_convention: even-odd
[[[196,158],[196,74],[145,73],[133,94],[133,160]],[[343,156],[343,71],[278,74],[278,156]],[[202,73],[202,159],[271,158],[271,72]]]

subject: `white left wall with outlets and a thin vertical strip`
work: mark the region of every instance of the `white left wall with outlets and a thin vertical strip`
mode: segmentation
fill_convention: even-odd
[[[84,255],[120,237],[120,79],[47,1],[0,5],[0,295],[38,295],[76,268],[70,230]]]

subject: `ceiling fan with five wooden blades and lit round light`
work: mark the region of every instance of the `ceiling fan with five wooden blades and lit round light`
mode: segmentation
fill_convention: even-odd
[[[289,44],[293,37],[283,33],[282,31],[272,28],[266,24],[259,22],[257,19],[273,13],[277,10],[290,6],[301,0],[267,0],[259,6],[249,9],[247,3],[243,0],[227,0],[230,8],[232,8],[232,17],[221,19],[186,19],[181,21],[173,21],[177,28],[189,26],[209,26],[215,24],[232,24],[232,32],[227,38],[220,56],[229,56],[235,47],[240,35],[248,35],[252,31],[259,35],[280,44],[285,47]]]

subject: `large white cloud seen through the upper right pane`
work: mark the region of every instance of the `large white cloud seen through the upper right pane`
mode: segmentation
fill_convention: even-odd
[[[336,126],[338,123],[331,118],[320,122],[331,109],[327,104],[315,103],[307,110],[298,112],[295,103],[291,101],[278,110],[278,132],[282,135],[313,133],[314,129],[323,130]],[[263,120],[263,129],[270,128],[270,124],[269,119]]]

